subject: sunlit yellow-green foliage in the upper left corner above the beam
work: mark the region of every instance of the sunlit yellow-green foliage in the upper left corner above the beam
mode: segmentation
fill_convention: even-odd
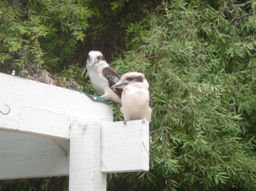
[[[83,1],[0,2],[0,61],[5,70],[37,65],[59,71],[69,65],[91,15]]]

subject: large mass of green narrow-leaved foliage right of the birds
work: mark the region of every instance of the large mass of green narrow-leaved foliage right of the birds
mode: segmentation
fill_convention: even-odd
[[[154,103],[150,172],[118,175],[131,190],[256,189],[255,3],[237,3],[164,3],[114,61],[146,74]]]

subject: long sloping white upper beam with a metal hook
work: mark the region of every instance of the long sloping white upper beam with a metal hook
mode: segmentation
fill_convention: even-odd
[[[80,92],[0,73],[0,129],[69,139],[74,121],[113,121],[112,105]]]

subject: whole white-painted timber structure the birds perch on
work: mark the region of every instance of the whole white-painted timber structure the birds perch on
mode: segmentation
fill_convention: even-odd
[[[0,73],[5,105],[0,130],[17,133],[0,131],[0,179],[69,174],[69,190],[95,191],[106,190],[105,172],[148,170],[148,122],[111,122],[111,105]]]

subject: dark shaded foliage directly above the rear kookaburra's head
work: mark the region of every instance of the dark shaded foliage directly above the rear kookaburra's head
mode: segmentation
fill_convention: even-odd
[[[143,0],[92,1],[94,15],[86,32],[85,52],[100,50],[105,58],[133,49],[137,35],[148,29],[147,20],[161,1]],[[142,24],[143,23],[143,24]]]

